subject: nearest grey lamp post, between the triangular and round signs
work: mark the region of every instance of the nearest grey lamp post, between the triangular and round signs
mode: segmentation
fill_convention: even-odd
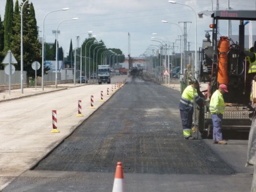
[[[20,89],[23,93],[23,6],[28,0],[26,0],[20,11]]]

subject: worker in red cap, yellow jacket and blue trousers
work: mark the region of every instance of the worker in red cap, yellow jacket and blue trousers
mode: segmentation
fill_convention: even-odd
[[[210,114],[213,122],[213,144],[227,144],[222,139],[221,123],[225,111],[225,102],[223,94],[228,92],[226,85],[221,84],[210,98]]]

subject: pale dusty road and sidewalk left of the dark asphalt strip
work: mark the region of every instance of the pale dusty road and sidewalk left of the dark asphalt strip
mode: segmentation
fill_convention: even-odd
[[[111,84],[102,85],[59,84],[57,88],[44,86],[44,90],[28,87],[23,88],[23,93],[15,89],[10,94],[9,90],[0,91],[0,191],[10,182],[4,177],[20,176],[38,164],[121,89],[115,85],[126,78],[113,77]],[[91,95],[94,108],[91,107]],[[77,116],[79,100],[82,116]],[[60,131],[57,133],[52,133],[52,110],[57,111],[57,130]]]

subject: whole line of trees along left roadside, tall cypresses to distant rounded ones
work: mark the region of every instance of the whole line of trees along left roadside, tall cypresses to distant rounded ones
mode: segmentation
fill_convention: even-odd
[[[23,6],[23,3],[26,0],[22,0],[22,3],[20,3],[18,0],[16,0],[15,5],[13,4],[13,0],[6,0],[6,6],[5,6],[5,16],[4,19],[2,20],[1,15],[0,15],[0,61],[2,62],[5,55],[9,50],[13,53],[15,59],[17,60],[18,64],[15,65],[16,70],[20,70],[20,28],[21,28],[21,8]],[[31,64],[34,61],[42,61],[42,44],[39,41],[39,30],[38,26],[36,23],[36,18],[35,18],[35,9],[33,6],[33,3],[26,2],[23,6],[23,70],[27,71],[27,76],[35,78],[35,70],[32,69]],[[91,41],[91,37],[87,38],[84,43],[81,45],[82,48],[85,47],[85,44],[88,41]],[[90,57],[93,58],[93,53],[90,54],[89,56],[89,46],[92,45],[93,43],[96,43],[95,41],[89,42],[88,45],[86,45],[86,53],[85,50],[82,52],[82,57]],[[101,45],[104,45],[104,42],[101,40]],[[63,48],[59,47],[59,44],[56,42],[53,44],[53,47],[50,48],[49,44],[45,44],[45,58],[44,61],[46,60],[55,60],[55,55],[56,55],[56,46],[58,48],[58,53],[59,53],[59,60],[64,59],[64,53],[63,53]],[[83,47],[84,46],[84,47]],[[94,48],[93,48],[94,47]],[[96,45],[92,45],[91,50],[96,50],[100,49],[97,48]],[[108,49],[101,49],[99,50],[99,55],[100,53],[106,51]],[[117,55],[122,55],[122,51],[120,49],[111,49],[113,52],[115,52]],[[79,51],[79,48],[76,50],[77,52]],[[83,51],[83,50],[82,50]],[[79,52],[80,53],[80,52]],[[94,53],[95,54],[95,53]],[[76,56],[77,57],[77,56]],[[71,40],[71,45],[69,47],[69,53],[67,60],[74,60],[75,55],[74,55],[74,50],[72,47],[72,40]],[[80,60],[80,58],[76,58],[77,61]],[[95,58],[94,60],[98,61],[98,65],[100,63],[99,57]],[[115,59],[117,60],[117,59]],[[118,61],[123,62],[125,60],[125,56],[119,57]],[[40,62],[41,63],[41,62]],[[93,62],[94,63],[94,62]],[[4,69],[5,64],[0,63],[0,70]],[[87,68],[89,66],[86,66]],[[47,74],[49,68],[44,68],[44,74]],[[42,76],[41,70],[37,70],[37,76]],[[28,78],[27,78],[28,79]]]

